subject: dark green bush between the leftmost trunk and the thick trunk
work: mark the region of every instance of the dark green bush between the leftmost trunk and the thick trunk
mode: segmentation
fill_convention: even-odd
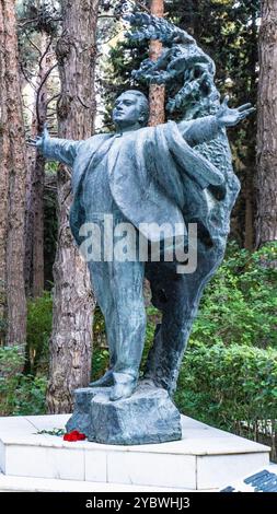
[[[48,373],[51,311],[53,299],[49,292],[27,302],[26,373]]]

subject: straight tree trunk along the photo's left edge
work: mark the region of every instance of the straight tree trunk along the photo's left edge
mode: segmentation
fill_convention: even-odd
[[[25,343],[25,137],[13,0],[0,0],[0,304],[1,342]],[[4,332],[4,334],[3,334]]]

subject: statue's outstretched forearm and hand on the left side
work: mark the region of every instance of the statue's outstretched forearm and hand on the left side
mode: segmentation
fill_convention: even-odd
[[[78,148],[81,141],[70,141],[69,139],[50,138],[46,125],[43,135],[31,144],[36,147],[46,159],[58,161],[67,166],[72,166],[77,156]]]

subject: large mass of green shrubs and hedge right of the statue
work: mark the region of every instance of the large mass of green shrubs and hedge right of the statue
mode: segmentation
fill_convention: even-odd
[[[181,411],[277,448],[277,244],[229,245],[181,369]]]

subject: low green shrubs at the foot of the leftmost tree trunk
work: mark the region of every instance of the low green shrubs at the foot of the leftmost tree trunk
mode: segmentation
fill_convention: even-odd
[[[22,347],[0,347],[0,416],[39,414],[45,412],[47,381],[24,375]]]

